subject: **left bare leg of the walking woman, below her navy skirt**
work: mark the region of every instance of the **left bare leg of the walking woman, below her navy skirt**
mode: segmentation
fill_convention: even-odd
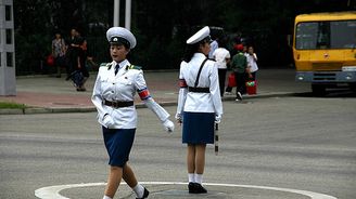
[[[115,193],[122,182],[123,177],[123,168],[119,167],[111,167],[110,174],[107,177],[107,185],[105,188],[105,196],[114,198]]]

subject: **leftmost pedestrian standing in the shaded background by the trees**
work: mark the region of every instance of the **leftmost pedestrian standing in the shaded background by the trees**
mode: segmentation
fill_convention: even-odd
[[[65,67],[65,41],[59,31],[55,32],[52,40],[52,56],[54,57],[54,67],[56,68],[56,78],[61,78],[61,68]]]

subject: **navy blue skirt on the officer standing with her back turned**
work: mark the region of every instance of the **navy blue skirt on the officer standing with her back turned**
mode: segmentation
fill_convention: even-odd
[[[183,112],[182,143],[214,144],[214,112]]]

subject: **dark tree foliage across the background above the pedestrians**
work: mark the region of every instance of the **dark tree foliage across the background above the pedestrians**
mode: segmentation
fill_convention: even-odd
[[[113,0],[14,1],[17,74],[42,72],[53,34],[75,27],[87,38],[90,54],[107,62],[105,31],[112,26]],[[125,1],[120,0],[120,24]],[[131,30],[138,45],[132,63],[147,69],[178,68],[186,40],[200,27],[223,27],[227,36],[249,39],[259,64],[287,65],[287,35],[295,15],[355,10],[356,0],[132,0]]]

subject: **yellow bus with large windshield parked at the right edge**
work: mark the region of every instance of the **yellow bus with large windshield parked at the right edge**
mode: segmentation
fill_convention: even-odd
[[[356,12],[295,17],[293,57],[296,81],[312,83],[315,95],[327,88],[356,85]]]

